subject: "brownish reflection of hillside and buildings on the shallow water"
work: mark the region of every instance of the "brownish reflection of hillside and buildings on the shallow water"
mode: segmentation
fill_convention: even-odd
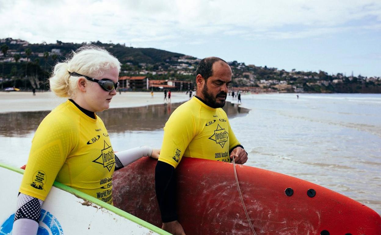
[[[99,112],[109,133],[162,129],[169,116],[181,103],[109,109]],[[229,118],[246,115],[249,110],[226,102],[223,108]],[[26,137],[34,133],[50,111],[11,112],[0,114],[0,136]],[[1,145],[1,144],[0,144]]]

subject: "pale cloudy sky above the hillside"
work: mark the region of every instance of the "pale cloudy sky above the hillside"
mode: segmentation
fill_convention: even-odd
[[[267,1],[6,1],[1,0],[0,37],[31,42],[55,40],[156,42],[213,34],[242,38],[316,37],[373,18],[379,30],[381,2],[375,0]],[[282,28],[300,26],[303,30]],[[377,27],[376,27],[377,26]]]

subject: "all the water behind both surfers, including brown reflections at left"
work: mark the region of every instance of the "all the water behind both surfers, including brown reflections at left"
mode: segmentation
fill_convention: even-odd
[[[240,106],[237,98],[227,101],[224,109],[249,154],[247,165],[322,185],[381,214],[381,94],[243,94]],[[115,151],[160,148],[162,128],[178,105],[98,115]],[[34,131],[47,114],[0,114],[0,162],[26,163]]]

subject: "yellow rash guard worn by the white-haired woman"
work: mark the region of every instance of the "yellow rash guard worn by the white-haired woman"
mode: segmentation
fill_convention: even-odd
[[[19,191],[45,200],[55,180],[112,204],[114,168],[101,118],[90,118],[66,101],[38,126]]]

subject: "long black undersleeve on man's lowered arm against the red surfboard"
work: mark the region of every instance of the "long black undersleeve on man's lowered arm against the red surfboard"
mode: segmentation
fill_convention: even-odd
[[[155,189],[163,223],[177,220],[176,175],[173,166],[157,161]]]

